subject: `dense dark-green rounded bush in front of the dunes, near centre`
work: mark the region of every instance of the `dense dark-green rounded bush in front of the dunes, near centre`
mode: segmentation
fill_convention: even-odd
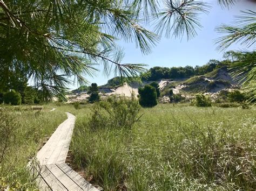
[[[142,107],[154,107],[157,105],[156,88],[146,85],[139,88],[139,104]]]

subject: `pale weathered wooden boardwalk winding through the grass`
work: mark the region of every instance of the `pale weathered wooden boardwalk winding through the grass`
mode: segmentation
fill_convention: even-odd
[[[98,190],[65,164],[76,120],[72,114],[66,114],[68,119],[37,153],[39,187],[41,190]]]

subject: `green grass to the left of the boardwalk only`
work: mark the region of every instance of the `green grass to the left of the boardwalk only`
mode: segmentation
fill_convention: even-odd
[[[31,110],[29,106],[1,106],[0,189],[36,189],[27,168],[40,146],[66,119],[62,111]]]

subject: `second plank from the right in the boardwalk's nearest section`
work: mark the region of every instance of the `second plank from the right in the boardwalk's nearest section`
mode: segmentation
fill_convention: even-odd
[[[83,190],[75,181],[66,175],[56,164],[46,165],[53,175],[65,186],[68,190]]]

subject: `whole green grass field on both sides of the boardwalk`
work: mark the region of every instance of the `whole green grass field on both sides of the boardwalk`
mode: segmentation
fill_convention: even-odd
[[[57,109],[49,112],[52,107]],[[79,107],[1,109],[1,119],[8,118],[8,124],[0,119],[1,189],[36,189],[26,165],[66,119],[65,111],[77,116],[72,166],[104,190],[256,188],[255,107],[158,104],[142,108],[132,128],[116,128],[106,120],[98,129],[91,129],[94,105]]]

